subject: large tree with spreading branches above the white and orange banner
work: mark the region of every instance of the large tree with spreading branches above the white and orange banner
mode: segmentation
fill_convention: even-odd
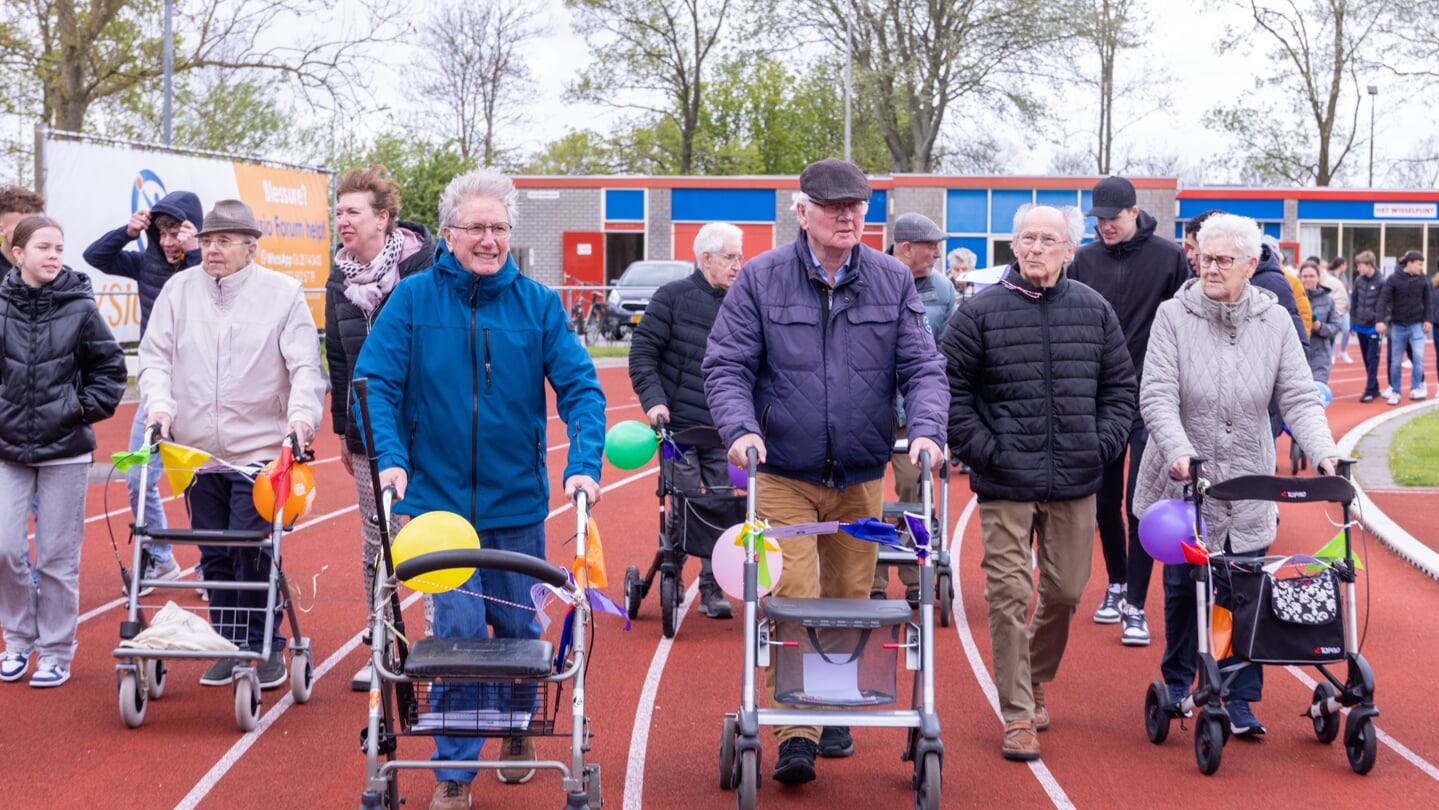
[[[176,75],[200,68],[253,69],[288,81],[309,104],[364,98],[353,46],[390,36],[383,0],[357,0],[364,19],[344,24],[328,0],[199,0],[176,4]],[[283,36],[286,20],[307,20]],[[157,89],[163,73],[160,0],[3,0],[0,65],[33,82],[39,118],[82,131],[99,99]],[[276,45],[278,43],[278,45]]]

